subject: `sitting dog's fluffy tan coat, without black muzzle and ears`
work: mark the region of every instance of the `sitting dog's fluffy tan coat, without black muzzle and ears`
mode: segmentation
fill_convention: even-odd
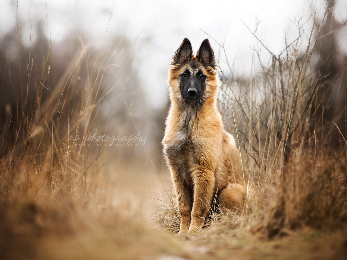
[[[180,233],[196,231],[204,224],[215,196],[227,209],[243,205],[247,184],[239,150],[224,130],[217,109],[217,66],[204,66],[197,57],[188,53],[185,63],[174,60],[168,79],[171,106],[163,147],[177,193]],[[180,74],[192,70],[192,62],[206,75],[204,102],[199,107],[188,106],[180,93]]]

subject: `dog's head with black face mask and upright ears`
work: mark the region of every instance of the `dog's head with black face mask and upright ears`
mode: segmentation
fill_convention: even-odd
[[[192,44],[184,38],[177,49],[169,70],[168,84],[171,97],[189,105],[214,101],[218,94],[217,64],[208,39],[193,56]]]

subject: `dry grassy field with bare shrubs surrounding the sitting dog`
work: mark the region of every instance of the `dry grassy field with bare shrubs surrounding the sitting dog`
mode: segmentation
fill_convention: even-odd
[[[259,40],[272,57],[260,72],[221,71],[247,203],[187,235],[161,158],[167,108],[141,100],[132,42],[64,50],[39,33],[25,46],[17,24],[0,53],[0,258],[346,259],[347,56],[333,5],[281,53]]]

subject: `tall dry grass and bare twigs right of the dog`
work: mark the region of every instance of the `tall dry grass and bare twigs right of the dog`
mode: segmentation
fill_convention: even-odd
[[[322,37],[334,37],[324,31],[333,23],[332,7],[327,1],[323,18],[314,17],[308,35],[310,27],[298,23],[298,38],[279,55],[259,40],[272,56],[271,66],[261,64],[259,75],[250,80],[225,77],[221,107],[231,129],[237,129],[251,172],[249,191],[256,194],[256,209],[244,217],[245,222],[268,237],[304,226],[331,230],[346,225],[347,99],[346,81],[341,80],[346,77],[346,62],[334,71],[331,57],[338,54],[331,51],[329,57],[320,57],[324,73],[335,75],[329,84],[324,80],[327,75],[312,65],[312,57],[329,48],[320,45]],[[304,37],[309,40],[303,46]],[[259,52],[255,55],[259,57]],[[332,88],[340,93],[335,101],[327,97]],[[322,92],[324,98],[318,94]],[[335,113],[327,118],[324,111],[331,107]]]

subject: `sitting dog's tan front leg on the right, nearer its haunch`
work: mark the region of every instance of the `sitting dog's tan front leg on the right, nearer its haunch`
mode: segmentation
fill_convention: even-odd
[[[213,189],[214,173],[203,167],[198,168],[193,174],[194,179],[194,203],[192,209],[192,221],[188,232],[197,231],[205,223],[205,217],[210,209]]]

